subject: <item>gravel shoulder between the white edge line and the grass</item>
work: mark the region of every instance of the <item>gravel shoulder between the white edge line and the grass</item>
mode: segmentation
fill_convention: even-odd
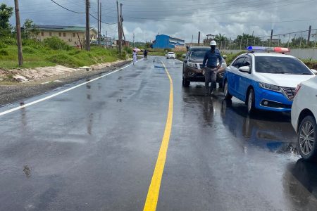
[[[71,75],[62,75],[58,79],[52,80],[51,82],[28,82],[28,83],[15,83],[15,84],[4,84],[0,83],[0,107],[6,106],[10,103],[22,102],[25,98],[44,94],[47,91],[63,87],[66,84],[77,82],[81,79],[93,79],[106,72],[111,72],[122,68],[127,65],[130,61],[123,61],[111,65],[110,67],[102,68],[100,70],[92,70],[88,72],[73,72]]]

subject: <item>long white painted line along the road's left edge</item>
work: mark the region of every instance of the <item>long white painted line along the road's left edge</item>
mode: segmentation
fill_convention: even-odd
[[[143,60],[143,58],[140,59],[140,60],[137,60],[137,62],[139,62],[139,61],[141,61],[141,60]],[[52,95],[50,95],[50,96],[46,96],[46,97],[44,97],[44,98],[41,98],[41,99],[39,99],[39,100],[37,100],[37,101],[33,101],[33,102],[31,102],[31,103],[27,103],[27,104],[25,104],[25,105],[23,105],[23,106],[18,106],[18,107],[16,107],[16,108],[12,108],[12,109],[10,109],[10,110],[6,110],[6,111],[4,111],[4,112],[1,112],[1,113],[0,113],[0,116],[6,115],[6,114],[8,114],[8,113],[12,113],[12,112],[15,111],[15,110],[20,110],[21,108],[25,108],[25,107],[28,107],[28,106],[32,106],[32,105],[34,105],[34,104],[36,104],[36,103],[39,103],[39,102],[42,102],[42,101],[46,101],[46,100],[48,100],[48,99],[50,99],[50,98],[54,98],[54,96],[58,96],[58,95],[60,95],[60,94],[66,93],[66,92],[68,92],[68,91],[70,91],[70,90],[76,89],[76,88],[78,88],[78,87],[82,87],[82,85],[89,84],[90,82],[94,82],[94,81],[97,80],[97,79],[101,79],[102,77],[106,77],[106,76],[108,76],[108,75],[111,75],[111,74],[113,74],[113,73],[115,73],[115,72],[118,72],[118,71],[120,71],[120,70],[123,70],[123,69],[125,69],[125,68],[128,68],[128,67],[131,66],[131,65],[132,65],[132,63],[131,63],[130,65],[126,65],[125,67],[120,68],[120,69],[118,69],[118,70],[115,70],[115,71],[113,71],[113,72],[109,72],[109,73],[107,73],[107,74],[105,74],[105,75],[101,75],[100,77],[91,79],[89,82],[84,82],[84,83],[82,83],[82,84],[78,84],[78,85],[76,85],[75,87],[70,87],[70,88],[65,89],[65,90],[63,90],[63,91],[60,91],[60,92],[58,92],[58,93],[56,93],[56,94],[52,94]]]

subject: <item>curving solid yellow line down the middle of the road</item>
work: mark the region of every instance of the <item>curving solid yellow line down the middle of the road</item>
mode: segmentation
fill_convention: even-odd
[[[156,210],[157,201],[159,200],[159,193],[161,187],[161,180],[163,176],[163,170],[166,162],[166,154],[168,151],[168,143],[170,141],[170,132],[172,130],[172,121],[173,121],[173,80],[170,77],[166,66],[162,62],[168,79],[170,79],[170,101],[168,104],[168,117],[166,120],[166,127],[164,131],[163,140],[161,143],[161,148],[159,151],[159,156],[156,160],[156,165],[154,173],[152,176],[151,184],[149,186],[149,191],[147,192],[147,200],[145,201],[144,211]]]

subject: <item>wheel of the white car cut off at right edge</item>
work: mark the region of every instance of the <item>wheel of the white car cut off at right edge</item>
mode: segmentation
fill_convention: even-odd
[[[307,135],[307,131],[312,133]],[[297,143],[299,154],[304,160],[317,161],[317,125],[313,116],[306,116],[300,123]]]

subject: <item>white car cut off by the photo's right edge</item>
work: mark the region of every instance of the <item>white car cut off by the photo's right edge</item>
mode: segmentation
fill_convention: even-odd
[[[317,77],[302,82],[292,105],[292,126],[304,160],[317,160]]]

